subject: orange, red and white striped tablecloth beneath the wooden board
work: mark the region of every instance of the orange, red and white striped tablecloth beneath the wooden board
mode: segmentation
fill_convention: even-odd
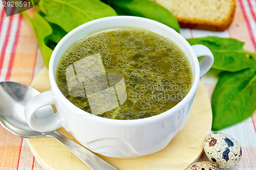
[[[2,3],[0,16],[0,82],[16,81],[29,85],[44,67],[33,31],[23,15],[6,17]],[[236,38],[245,42],[245,50],[256,52],[256,1],[237,0],[232,25],[224,32],[181,29],[181,35],[185,38],[205,36]],[[205,75],[201,80],[210,98],[217,78]],[[256,113],[244,122],[221,132],[237,139],[242,146],[242,159],[231,169],[256,169]],[[200,160],[207,160],[207,157],[202,155]],[[25,140],[9,133],[2,126],[0,126],[0,169],[42,169]]]

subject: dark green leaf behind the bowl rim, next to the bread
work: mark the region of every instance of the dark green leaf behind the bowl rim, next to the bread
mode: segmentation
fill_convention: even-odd
[[[180,32],[180,25],[172,12],[150,0],[111,0],[109,3],[119,15],[150,18]]]

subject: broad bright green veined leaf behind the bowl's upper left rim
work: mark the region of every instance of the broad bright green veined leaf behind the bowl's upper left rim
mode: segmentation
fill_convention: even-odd
[[[117,15],[113,8],[99,0],[41,0],[38,8],[45,13],[48,22],[66,32],[88,21]]]

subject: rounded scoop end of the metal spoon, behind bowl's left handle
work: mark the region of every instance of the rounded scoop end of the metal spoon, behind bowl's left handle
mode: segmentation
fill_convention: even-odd
[[[25,105],[35,95],[39,94],[36,89],[25,84],[16,82],[1,82],[0,83],[0,123],[5,129],[11,133],[24,137],[41,137],[44,133],[32,130],[25,118]],[[54,114],[51,106],[46,106],[38,110],[44,112],[44,116],[51,116]],[[35,113],[37,119],[46,117],[39,117],[38,112]]]

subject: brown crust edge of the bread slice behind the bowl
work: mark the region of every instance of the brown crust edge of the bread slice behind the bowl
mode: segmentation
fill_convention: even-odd
[[[169,1],[169,0],[166,0]],[[177,1],[177,0],[174,0]],[[217,0],[216,0],[217,1]],[[157,3],[157,0],[155,0]],[[161,5],[161,4],[160,4]],[[209,31],[225,31],[231,25],[236,10],[236,0],[232,0],[230,3],[229,13],[225,18],[218,21],[211,21],[200,18],[186,18],[176,16],[181,28],[209,30]]]

